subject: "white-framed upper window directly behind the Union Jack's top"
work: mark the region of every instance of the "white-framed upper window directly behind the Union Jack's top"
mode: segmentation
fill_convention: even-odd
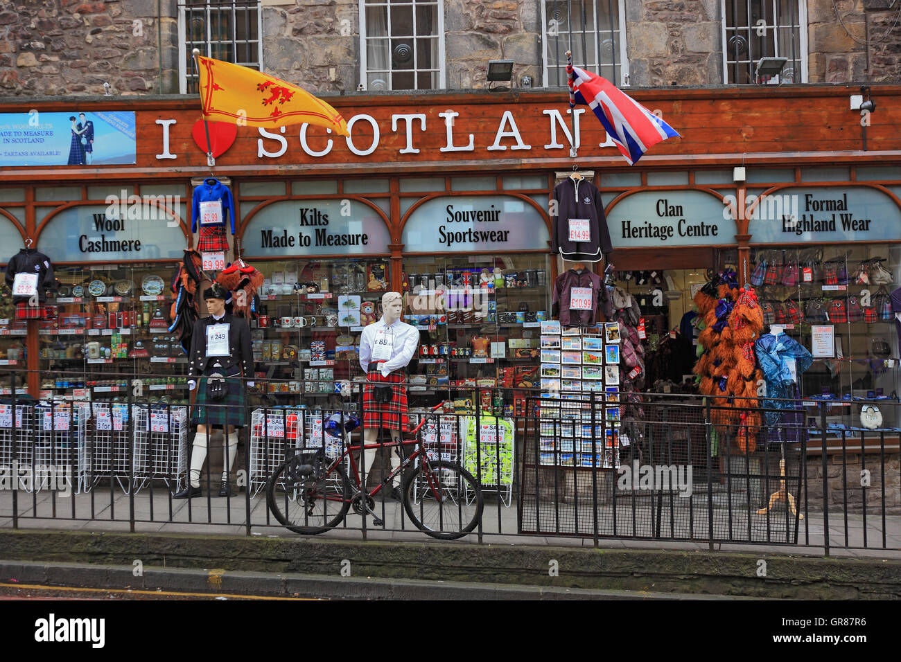
[[[566,86],[566,51],[572,63],[629,85],[625,52],[625,0],[542,0],[544,86]]]

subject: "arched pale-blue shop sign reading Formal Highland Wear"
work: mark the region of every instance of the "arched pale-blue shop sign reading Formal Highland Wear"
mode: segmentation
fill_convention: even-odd
[[[785,188],[760,197],[749,231],[754,244],[901,240],[901,210],[869,186]]]

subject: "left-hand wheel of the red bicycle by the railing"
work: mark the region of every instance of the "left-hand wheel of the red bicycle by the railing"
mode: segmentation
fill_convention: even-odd
[[[288,463],[278,465],[266,485],[266,501],[278,523],[295,533],[313,535],[332,529],[350,508],[350,480],[339,464],[316,479],[292,477]]]

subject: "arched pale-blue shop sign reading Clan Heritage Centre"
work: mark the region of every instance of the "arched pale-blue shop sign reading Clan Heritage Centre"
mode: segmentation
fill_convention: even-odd
[[[735,241],[735,221],[723,202],[701,191],[642,191],[607,213],[614,249],[705,246]]]

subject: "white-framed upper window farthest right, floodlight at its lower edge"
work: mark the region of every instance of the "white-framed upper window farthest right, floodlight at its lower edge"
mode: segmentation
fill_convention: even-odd
[[[772,82],[807,82],[805,0],[721,0],[724,82],[752,84],[760,58],[787,58]]]

